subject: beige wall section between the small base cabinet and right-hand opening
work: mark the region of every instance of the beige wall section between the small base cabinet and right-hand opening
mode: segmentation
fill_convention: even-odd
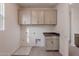
[[[69,20],[69,5],[58,4],[57,6],[57,31],[60,33],[60,53],[67,56],[69,53],[69,38],[70,38],[70,20]]]

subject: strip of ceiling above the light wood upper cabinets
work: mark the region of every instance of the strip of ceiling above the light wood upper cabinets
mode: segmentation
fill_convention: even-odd
[[[18,3],[18,5],[24,8],[53,8],[57,3]]]

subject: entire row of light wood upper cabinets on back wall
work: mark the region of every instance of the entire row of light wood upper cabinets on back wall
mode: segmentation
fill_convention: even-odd
[[[27,8],[19,12],[20,24],[56,24],[57,11],[52,8]]]

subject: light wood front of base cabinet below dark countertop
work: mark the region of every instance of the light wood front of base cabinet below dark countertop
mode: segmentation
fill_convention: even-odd
[[[46,39],[46,50],[59,50],[59,40]]]

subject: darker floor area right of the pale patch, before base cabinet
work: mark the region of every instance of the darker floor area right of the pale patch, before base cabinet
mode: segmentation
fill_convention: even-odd
[[[32,47],[30,56],[61,56],[57,51],[48,52],[42,47]]]

